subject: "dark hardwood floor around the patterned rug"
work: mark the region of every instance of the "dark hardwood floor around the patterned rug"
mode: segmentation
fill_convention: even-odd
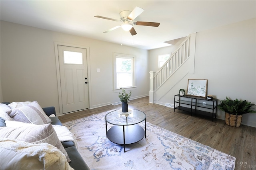
[[[128,107],[146,114],[146,121],[164,129],[208,145],[236,157],[236,170],[256,170],[256,128],[246,125],[231,127],[224,120],[190,116],[190,113],[170,107],[148,103],[149,97],[130,100]],[[62,123],[111,109],[121,109],[121,104],[87,109],[64,114]]]

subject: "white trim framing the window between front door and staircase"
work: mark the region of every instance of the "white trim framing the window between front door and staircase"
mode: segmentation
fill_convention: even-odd
[[[120,88],[116,88],[116,57],[123,57],[123,58],[132,58],[133,63],[132,63],[132,69],[133,69],[133,82],[131,87],[126,87],[124,89],[129,89],[129,90],[136,90],[136,55],[128,55],[128,54],[121,54],[121,53],[113,53],[113,67],[114,67],[114,72],[113,72],[113,88],[114,92],[121,92]]]

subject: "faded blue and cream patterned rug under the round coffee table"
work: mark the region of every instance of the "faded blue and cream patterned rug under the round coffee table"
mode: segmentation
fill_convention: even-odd
[[[234,170],[236,158],[146,122],[145,137],[123,145],[106,138],[106,111],[63,123],[92,170]],[[144,122],[140,124],[145,127]],[[113,126],[108,123],[108,129]]]

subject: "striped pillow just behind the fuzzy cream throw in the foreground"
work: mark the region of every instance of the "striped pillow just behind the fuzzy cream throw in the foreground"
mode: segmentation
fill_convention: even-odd
[[[64,153],[68,162],[70,162],[68,153],[50,123],[25,127],[0,127],[0,132],[0,138],[16,139],[28,143],[49,143]]]

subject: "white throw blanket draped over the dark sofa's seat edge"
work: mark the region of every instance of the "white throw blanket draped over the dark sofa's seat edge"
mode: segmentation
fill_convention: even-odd
[[[52,125],[54,130],[57,133],[57,136],[61,142],[66,141],[72,141],[74,142],[74,145],[76,149],[78,150],[78,145],[76,141],[76,137],[73,133],[71,133],[66,126],[60,126],[60,125]]]

